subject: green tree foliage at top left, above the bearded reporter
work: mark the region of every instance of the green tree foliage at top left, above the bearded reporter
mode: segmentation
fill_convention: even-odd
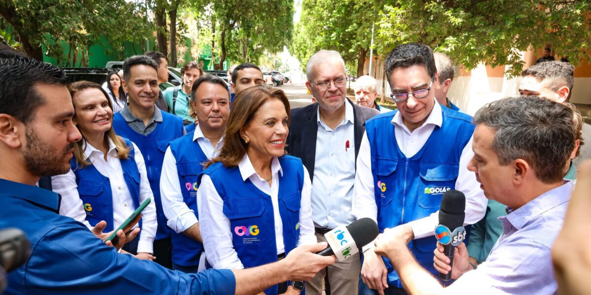
[[[59,62],[72,58],[75,63],[78,53],[84,58],[102,37],[122,49],[125,41],[139,43],[151,35],[142,5],[126,0],[0,0],[0,15],[30,57],[43,60],[45,50]],[[61,41],[70,45],[69,57]]]

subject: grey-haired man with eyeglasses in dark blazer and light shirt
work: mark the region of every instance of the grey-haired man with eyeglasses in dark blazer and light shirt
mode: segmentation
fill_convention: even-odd
[[[336,51],[312,55],[306,77],[306,86],[317,103],[291,111],[288,152],[301,158],[310,173],[316,237],[326,241],[326,232],[355,221],[351,214],[355,159],[365,121],[379,112],[346,98],[345,62]],[[355,254],[321,270],[307,282],[306,294],[322,294],[325,276],[327,293],[356,294],[360,267],[359,254]]]

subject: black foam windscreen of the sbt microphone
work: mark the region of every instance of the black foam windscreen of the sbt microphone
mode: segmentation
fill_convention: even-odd
[[[441,198],[439,209],[439,224],[445,225],[449,230],[461,227],[464,224],[466,209],[466,196],[463,192],[449,190]]]

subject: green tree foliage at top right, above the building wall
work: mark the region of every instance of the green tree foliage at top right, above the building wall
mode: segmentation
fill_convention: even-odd
[[[376,27],[386,52],[405,42],[444,51],[456,63],[523,68],[520,51],[550,44],[578,64],[590,51],[591,2],[581,0],[480,1],[397,0],[385,2]]]

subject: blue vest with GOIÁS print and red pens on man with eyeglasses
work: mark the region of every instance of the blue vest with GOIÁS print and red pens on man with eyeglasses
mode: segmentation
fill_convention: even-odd
[[[378,227],[396,227],[439,210],[444,192],[454,189],[460,155],[474,132],[472,117],[441,107],[443,123],[435,127],[427,142],[412,158],[398,148],[391,121],[398,112],[379,114],[365,123],[371,147]],[[434,236],[415,239],[408,247],[418,263],[433,274]],[[384,258],[388,284],[401,288],[398,274]]]

